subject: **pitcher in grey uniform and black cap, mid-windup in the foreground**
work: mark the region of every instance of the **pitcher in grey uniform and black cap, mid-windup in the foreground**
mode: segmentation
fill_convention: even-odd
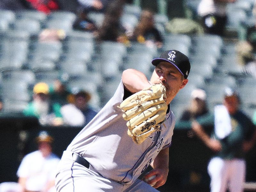
[[[113,97],[63,152],[57,192],[158,191],[165,183],[175,124],[170,102],[188,83],[190,63],[170,50],[152,64],[150,81],[125,70]]]

